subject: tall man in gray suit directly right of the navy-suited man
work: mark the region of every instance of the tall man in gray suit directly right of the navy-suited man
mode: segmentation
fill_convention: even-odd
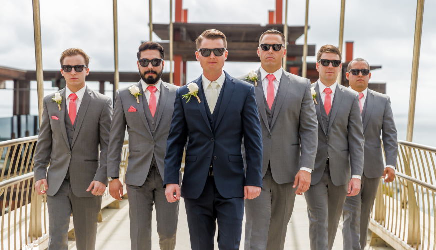
[[[318,122],[310,80],[283,70],[285,44],[280,31],[265,31],[257,80],[243,78],[255,86],[263,140],[262,192],[245,201],[246,250],[284,249],[295,195],[307,191],[314,169]]]

